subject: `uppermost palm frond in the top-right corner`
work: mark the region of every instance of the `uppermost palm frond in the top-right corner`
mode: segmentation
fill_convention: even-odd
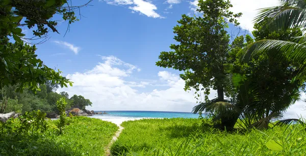
[[[286,30],[292,27],[305,28],[306,1],[283,1],[280,6],[260,9],[259,15],[254,19],[260,27],[270,30]]]

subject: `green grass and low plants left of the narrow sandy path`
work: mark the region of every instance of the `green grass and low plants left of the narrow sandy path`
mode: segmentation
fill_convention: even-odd
[[[105,155],[118,129],[114,123],[79,116],[68,117],[60,134],[59,120],[44,117],[38,111],[1,123],[0,155]]]

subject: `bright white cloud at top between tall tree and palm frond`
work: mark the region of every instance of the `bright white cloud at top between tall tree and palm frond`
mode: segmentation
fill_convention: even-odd
[[[195,0],[190,3],[190,9],[196,14],[198,1]],[[233,8],[230,11],[234,13],[242,13],[243,15],[238,19],[240,26],[250,32],[253,30],[253,19],[258,14],[258,9],[273,7],[279,5],[279,0],[232,0]]]

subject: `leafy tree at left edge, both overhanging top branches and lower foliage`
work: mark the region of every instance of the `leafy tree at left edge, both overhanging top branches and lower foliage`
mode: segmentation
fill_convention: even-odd
[[[57,32],[55,14],[72,23],[77,19],[75,9],[82,6],[70,6],[66,0],[3,0],[0,1],[0,87],[18,84],[17,91],[30,86],[34,91],[39,85],[52,81],[61,87],[72,83],[43,64],[35,54],[36,47],[24,44],[24,41],[45,37],[49,31]],[[33,37],[25,38],[22,28],[33,30]],[[12,43],[11,39],[15,40]]]

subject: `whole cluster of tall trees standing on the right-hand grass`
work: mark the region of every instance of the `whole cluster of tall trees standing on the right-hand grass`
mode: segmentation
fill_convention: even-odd
[[[284,5],[290,4],[286,1]],[[263,26],[262,21],[272,20],[263,16],[269,14],[264,9],[259,15],[263,20],[254,24],[253,38],[245,35],[231,41],[225,29],[229,22],[238,25],[236,18],[241,16],[230,12],[231,7],[230,1],[199,1],[197,11],[202,16],[182,16],[180,25],[174,27],[179,44],[170,46],[174,51],[161,52],[157,65],[184,71],[185,89],[195,89],[196,97],[201,91],[205,94],[193,112],[210,113],[218,128],[233,130],[240,123],[243,129],[267,129],[271,119],[282,117],[299,100],[306,80],[305,59],[292,59],[292,49],[285,44],[268,44],[302,39],[302,29],[297,25],[276,30],[269,28],[273,25]],[[274,18],[281,17],[277,14]],[[211,89],[217,90],[216,99],[208,99]]]

